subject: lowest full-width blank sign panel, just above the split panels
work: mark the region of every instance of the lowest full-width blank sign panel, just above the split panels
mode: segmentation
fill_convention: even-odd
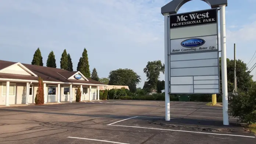
[[[218,75],[218,66],[203,68],[170,69],[170,76],[205,76]]]

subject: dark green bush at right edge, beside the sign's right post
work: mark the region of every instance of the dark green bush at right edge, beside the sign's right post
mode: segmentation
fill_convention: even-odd
[[[256,122],[256,84],[248,92],[238,92],[229,101],[229,114],[248,124]]]

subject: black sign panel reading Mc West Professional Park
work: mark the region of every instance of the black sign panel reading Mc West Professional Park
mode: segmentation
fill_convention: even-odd
[[[217,23],[217,8],[170,15],[170,28]]]

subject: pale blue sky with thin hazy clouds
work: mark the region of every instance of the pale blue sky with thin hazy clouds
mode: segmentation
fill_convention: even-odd
[[[90,71],[100,78],[119,68],[133,69],[143,87],[148,61],[164,63],[164,17],[161,7],[171,0],[0,0],[0,60],[31,64],[39,47],[46,66],[53,50],[57,68],[63,50],[76,70],[83,48]],[[256,47],[256,0],[228,0],[226,7],[227,58],[248,63]],[[178,11],[209,9],[192,0]],[[251,45],[253,44],[253,45]],[[256,54],[255,54],[256,55]],[[255,64],[248,64],[251,68]],[[256,68],[251,73],[255,75]],[[164,75],[160,75],[160,80]]]

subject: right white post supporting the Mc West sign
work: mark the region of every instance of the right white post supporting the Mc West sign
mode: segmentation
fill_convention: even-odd
[[[225,4],[220,5],[220,45],[221,45],[221,77],[222,77],[221,82],[222,82],[222,103],[223,103],[223,125],[229,125],[225,7],[226,7]]]

